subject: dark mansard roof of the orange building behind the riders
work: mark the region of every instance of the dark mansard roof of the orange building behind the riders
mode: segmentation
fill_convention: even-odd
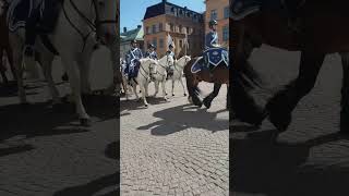
[[[177,12],[176,12],[177,11]],[[178,12],[180,11],[185,11],[186,13],[190,13],[190,16],[185,16],[183,15],[179,15]],[[196,17],[198,17],[198,21],[201,22],[203,20],[203,14],[189,10],[186,7],[179,7],[177,4],[167,2],[167,1],[161,1],[160,3],[154,4],[152,7],[148,7],[146,9],[146,12],[144,14],[143,20],[147,20],[151,17],[155,17],[158,15],[163,15],[163,14],[169,14],[169,15],[176,15],[176,16],[182,16],[182,17],[191,17],[194,19],[194,15],[196,15]]]

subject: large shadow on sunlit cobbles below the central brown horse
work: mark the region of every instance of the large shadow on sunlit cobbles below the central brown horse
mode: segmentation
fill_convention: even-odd
[[[155,112],[155,118],[163,119],[137,130],[152,130],[153,135],[169,135],[189,127],[203,128],[212,132],[229,128],[229,120],[217,119],[217,112],[207,112],[206,109],[197,109],[192,105],[178,106]]]

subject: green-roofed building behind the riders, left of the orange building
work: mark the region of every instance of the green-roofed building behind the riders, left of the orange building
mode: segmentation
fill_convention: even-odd
[[[144,33],[141,25],[137,28],[128,30],[123,27],[123,32],[120,34],[120,58],[124,59],[127,52],[131,48],[131,41],[136,40],[140,49],[144,52]]]

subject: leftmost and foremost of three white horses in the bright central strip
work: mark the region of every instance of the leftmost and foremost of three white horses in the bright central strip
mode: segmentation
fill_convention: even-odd
[[[148,85],[149,85],[151,78],[156,73],[158,62],[151,58],[144,58],[140,60],[140,63],[141,65],[140,65],[139,74],[134,79],[131,79],[131,86],[133,87],[133,93],[136,97],[136,100],[139,100],[140,97],[136,91],[136,86],[140,85],[144,106],[148,107],[148,102],[146,101],[146,97],[148,97]],[[127,99],[129,98],[127,97]]]

